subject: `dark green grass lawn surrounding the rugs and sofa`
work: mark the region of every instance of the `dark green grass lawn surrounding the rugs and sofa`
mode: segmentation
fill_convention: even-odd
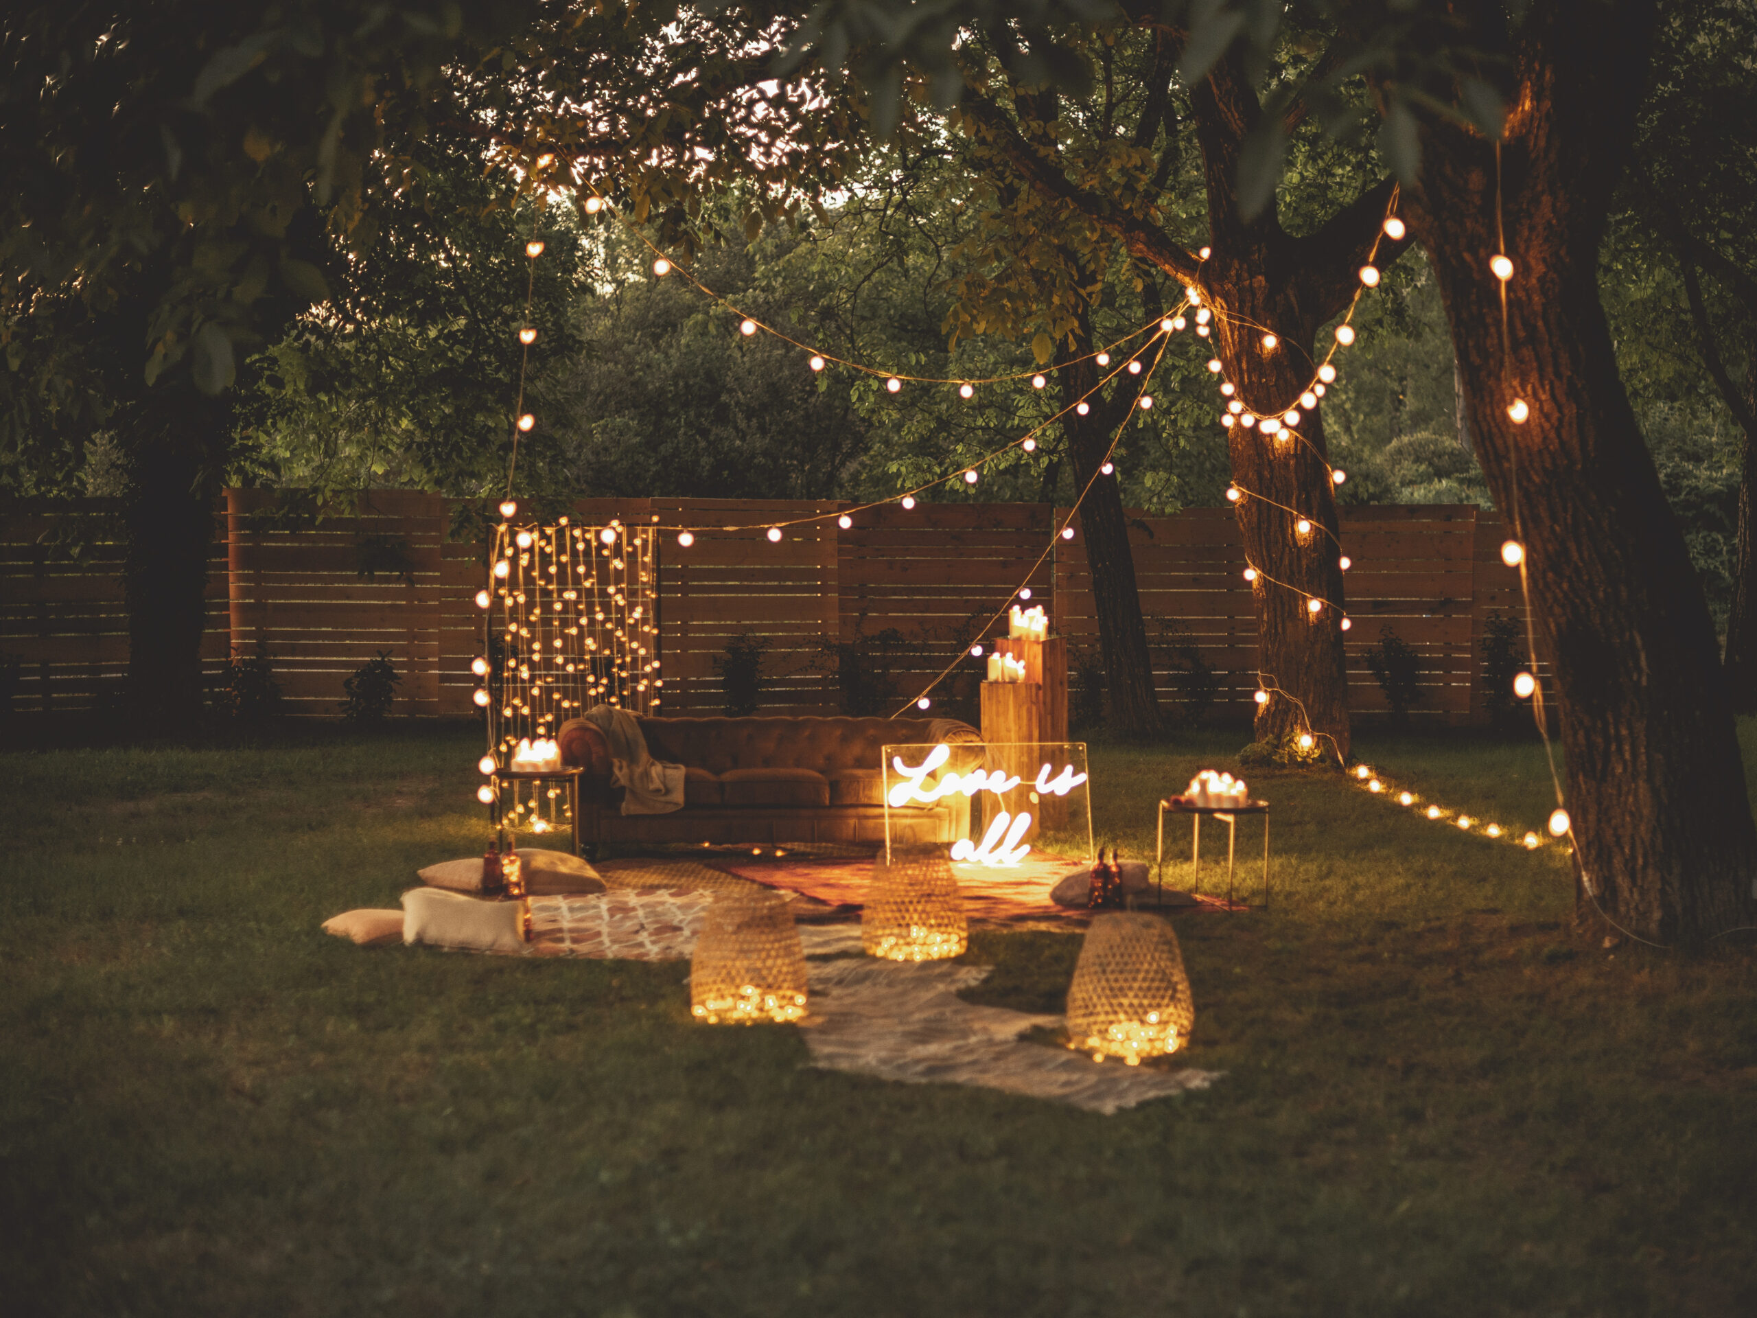
[[[1095,747],[1098,835],[1151,856],[1156,796],[1242,742]],[[0,761],[7,1313],[1757,1311],[1752,956],[1576,938],[1553,849],[1249,773],[1276,909],[1175,921],[1188,1060],[1226,1077],[1103,1118],[805,1068],[791,1026],[691,1023],[682,963],[320,933],[481,851],[476,754]],[[1362,754],[1550,810],[1534,745]],[[1077,951],[970,956],[984,1000],[1059,1010]]]

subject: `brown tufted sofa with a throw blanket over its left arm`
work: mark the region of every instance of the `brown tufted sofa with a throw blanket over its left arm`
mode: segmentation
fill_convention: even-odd
[[[880,747],[982,740],[956,719],[641,719],[641,733],[654,759],[683,764],[682,810],[624,815],[604,735],[562,724],[562,763],[585,770],[587,842],[884,842]],[[954,793],[891,815],[893,842],[954,842],[970,801]]]

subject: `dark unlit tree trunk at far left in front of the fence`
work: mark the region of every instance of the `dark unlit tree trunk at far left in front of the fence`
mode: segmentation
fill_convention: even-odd
[[[202,633],[214,497],[230,401],[177,380],[148,392],[123,431],[128,455],[128,713],[134,731],[188,735],[202,719]]]

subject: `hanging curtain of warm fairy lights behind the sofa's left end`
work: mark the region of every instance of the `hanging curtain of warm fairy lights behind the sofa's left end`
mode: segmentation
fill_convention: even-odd
[[[629,713],[659,708],[657,536],[654,527],[501,524],[494,536],[481,680],[476,705],[488,715],[490,775],[481,800],[497,821],[546,833],[566,817],[566,793],[552,782],[508,780],[520,742],[555,740],[560,726],[594,705]],[[559,803],[557,803],[559,801]]]

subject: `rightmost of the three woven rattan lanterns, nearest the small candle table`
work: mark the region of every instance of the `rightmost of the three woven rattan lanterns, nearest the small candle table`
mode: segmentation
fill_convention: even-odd
[[[1144,912],[1093,919],[1068,988],[1068,1047],[1139,1067],[1182,1047],[1195,1023],[1172,926]]]

